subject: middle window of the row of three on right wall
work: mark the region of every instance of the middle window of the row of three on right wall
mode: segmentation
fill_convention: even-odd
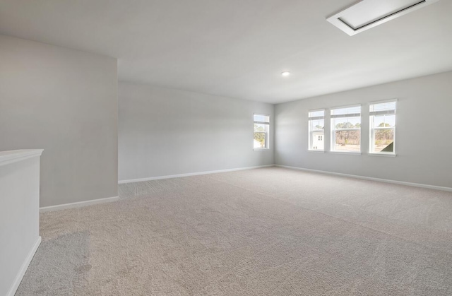
[[[361,106],[331,110],[331,151],[361,152]]]

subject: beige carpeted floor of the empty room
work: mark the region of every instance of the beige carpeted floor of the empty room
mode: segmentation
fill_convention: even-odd
[[[16,295],[452,295],[452,192],[279,167],[41,214]]]

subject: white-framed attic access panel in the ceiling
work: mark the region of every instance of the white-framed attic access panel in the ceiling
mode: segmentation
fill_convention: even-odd
[[[326,20],[352,36],[439,0],[362,0]]]

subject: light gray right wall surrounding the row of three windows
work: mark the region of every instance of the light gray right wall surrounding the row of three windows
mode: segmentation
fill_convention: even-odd
[[[367,155],[369,104],[398,99],[395,158]],[[362,104],[362,155],[308,151],[309,109]],[[275,164],[452,187],[452,72],[275,106]],[[326,122],[326,135],[330,132]],[[326,136],[326,147],[329,147]]]

